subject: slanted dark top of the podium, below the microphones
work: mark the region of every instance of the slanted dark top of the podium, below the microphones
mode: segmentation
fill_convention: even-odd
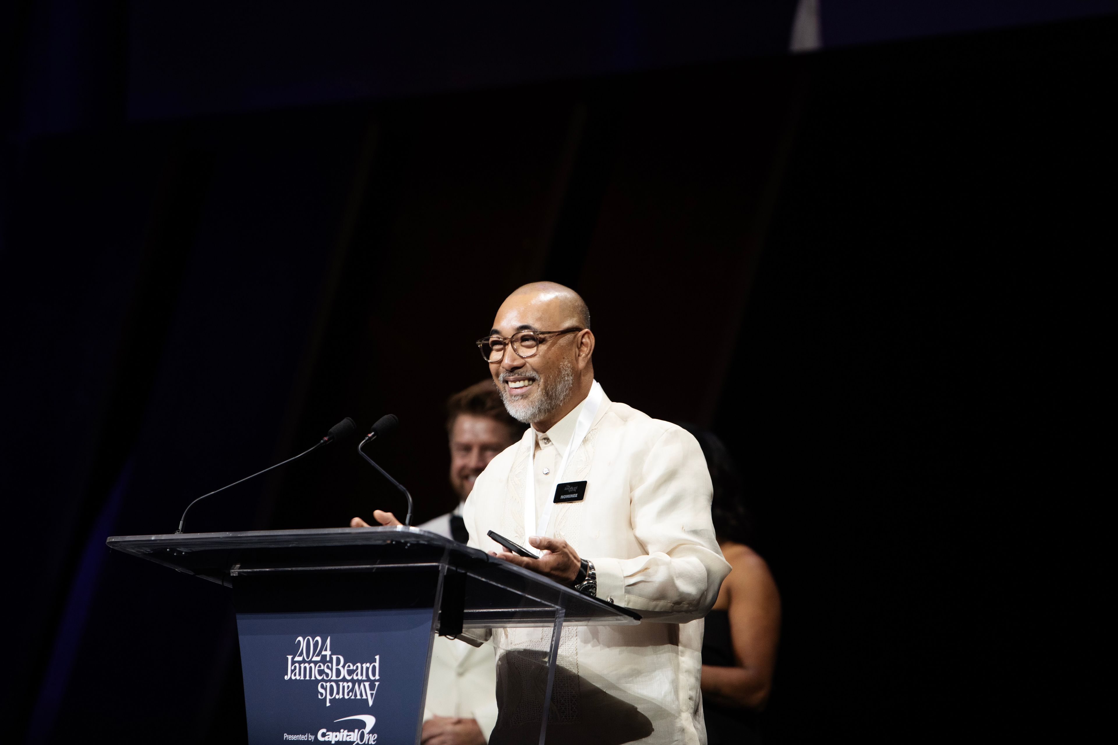
[[[464,628],[550,625],[559,608],[565,625],[627,625],[641,620],[626,608],[415,527],[172,533],[113,536],[105,543],[227,586],[240,579],[305,582],[351,573],[399,577],[407,572],[437,573],[445,565],[466,577]]]

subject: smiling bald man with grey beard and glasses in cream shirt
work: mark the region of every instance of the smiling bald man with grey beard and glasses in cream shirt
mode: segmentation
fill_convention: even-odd
[[[629,374],[683,351],[655,333],[627,329],[610,340],[628,355]],[[509,413],[531,427],[477,477],[463,510],[470,545],[643,619],[563,628],[548,739],[704,743],[701,619],[730,566],[714,538],[699,443],[606,397],[594,379],[589,312],[567,287],[517,289],[477,346]],[[701,361],[701,347],[688,351]],[[398,524],[389,513],[373,516]],[[489,531],[540,557],[505,551]],[[534,685],[525,661],[544,649],[541,630],[494,629],[492,637],[500,715],[490,743],[533,742],[510,701]]]

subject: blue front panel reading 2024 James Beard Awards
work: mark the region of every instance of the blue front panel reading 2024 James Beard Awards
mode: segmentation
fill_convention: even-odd
[[[238,613],[250,745],[415,743],[432,609]]]

